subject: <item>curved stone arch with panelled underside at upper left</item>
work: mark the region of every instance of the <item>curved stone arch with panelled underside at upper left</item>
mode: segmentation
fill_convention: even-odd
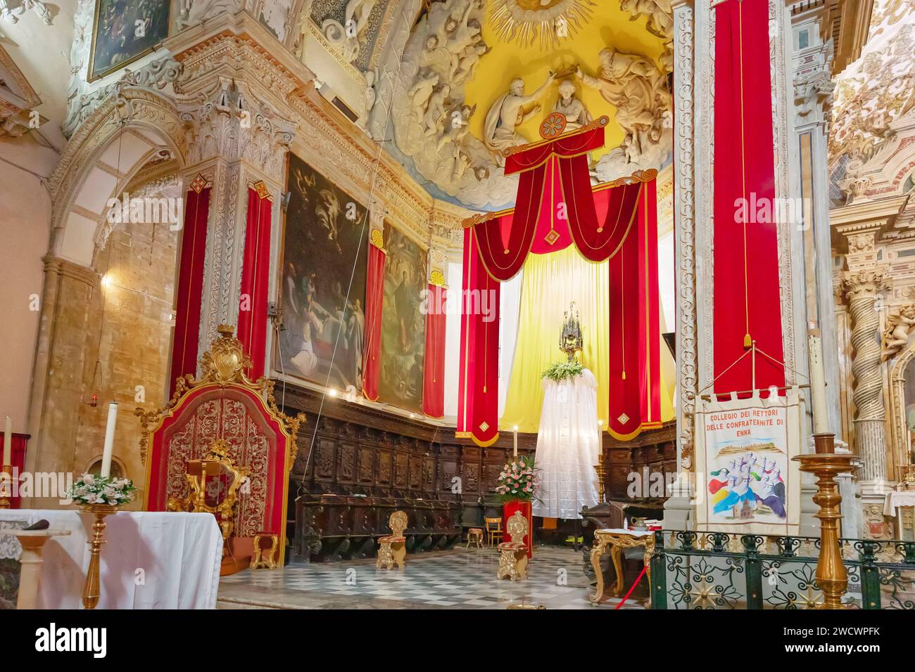
[[[93,267],[108,200],[150,160],[185,165],[188,138],[178,109],[143,87],[116,88],[70,138],[50,177],[51,256]]]

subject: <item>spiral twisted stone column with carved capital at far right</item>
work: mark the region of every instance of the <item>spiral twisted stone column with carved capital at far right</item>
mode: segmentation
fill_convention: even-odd
[[[855,448],[864,462],[865,481],[885,481],[886,410],[880,372],[880,315],[877,297],[889,287],[886,267],[845,272],[843,289],[852,320],[852,399],[855,401]]]

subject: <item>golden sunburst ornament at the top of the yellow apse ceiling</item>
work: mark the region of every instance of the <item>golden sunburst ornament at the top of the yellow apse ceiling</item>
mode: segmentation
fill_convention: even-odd
[[[493,0],[490,20],[503,42],[541,48],[558,47],[590,20],[596,5],[591,0]]]

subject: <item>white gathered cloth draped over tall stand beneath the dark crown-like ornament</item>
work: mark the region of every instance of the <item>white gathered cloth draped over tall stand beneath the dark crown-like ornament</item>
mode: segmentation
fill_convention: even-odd
[[[540,487],[534,516],[581,517],[597,504],[597,379],[587,368],[574,379],[544,379],[544,410],[537,432]]]

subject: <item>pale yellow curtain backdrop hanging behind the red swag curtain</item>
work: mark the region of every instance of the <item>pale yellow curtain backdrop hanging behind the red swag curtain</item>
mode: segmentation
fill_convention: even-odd
[[[607,425],[609,389],[609,272],[608,262],[583,258],[574,245],[550,254],[530,254],[524,262],[521,310],[514,362],[511,366],[502,431],[518,425],[519,432],[537,432],[544,405],[541,373],[565,359],[559,349],[563,313],[575,301],[581,320],[584,349],[580,361],[597,379],[597,418]],[[670,387],[664,374],[673,369],[662,341],[661,418],[673,418]],[[664,361],[666,357],[667,361]],[[667,365],[667,366],[664,366]]]

